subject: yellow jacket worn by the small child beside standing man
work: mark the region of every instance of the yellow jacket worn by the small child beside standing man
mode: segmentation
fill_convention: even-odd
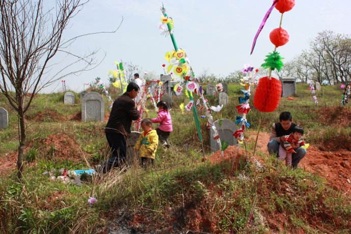
[[[155,159],[157,145],[158,135],[156,130],[151,130],[146,136],[144,136],[144,132],[140,134],[134,149],[139,151],[140,157]]]

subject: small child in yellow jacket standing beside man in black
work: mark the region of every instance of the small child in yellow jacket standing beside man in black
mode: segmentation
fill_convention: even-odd
[[[141,121],[141,128],[143,132],[140,134],[134,149],[139,151],[141,165],[148,166],[153,164],[155,160],[158,135],[156,130],[152,129],[152,122],[150,119],[143,119]]]

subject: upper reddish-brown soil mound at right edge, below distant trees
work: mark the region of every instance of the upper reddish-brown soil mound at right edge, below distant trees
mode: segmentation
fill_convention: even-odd
[[[338,127],[351,126],[351,109],[347,107],[325,107],[315,112],[320,123]]]

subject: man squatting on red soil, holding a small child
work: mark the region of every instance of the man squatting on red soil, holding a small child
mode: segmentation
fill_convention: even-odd
[[[280,142],[284,141],[284,136],[290,135],[297,125],[293,123],[293,117],[290,112],[284,111],[280,113],[279,123],[273,124],[271,128],[270,141],[268,142],[268,152],[277,154]],[[293,154],[292,166],[296,168],[300,160],[305,157],[306,149],[299,148],[296,154]]]

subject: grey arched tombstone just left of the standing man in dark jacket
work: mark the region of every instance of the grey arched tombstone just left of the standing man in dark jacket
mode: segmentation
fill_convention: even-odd
[[[104,121],[105,103],[99,93],[87,92],[82,99],[82,122]]]

